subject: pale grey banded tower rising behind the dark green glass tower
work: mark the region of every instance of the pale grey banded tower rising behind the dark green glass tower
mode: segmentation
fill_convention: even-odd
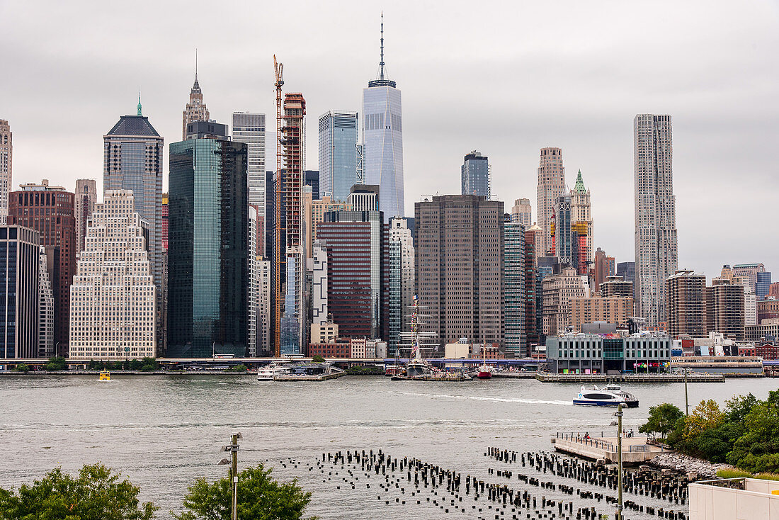
[[[257,231],[265,223],[265,114],[233,112],[233,140],[249,145],[249,204],[259,210]]]

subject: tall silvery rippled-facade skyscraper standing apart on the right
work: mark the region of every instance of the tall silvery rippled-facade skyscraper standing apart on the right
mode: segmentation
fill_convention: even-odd
[[[636,313],[647,325],[663,324],[665,280],[676,272],[676,202],[673,191],[671,116],[633,119],[636,173]],[[626,278],[627,279],[627,278]]]

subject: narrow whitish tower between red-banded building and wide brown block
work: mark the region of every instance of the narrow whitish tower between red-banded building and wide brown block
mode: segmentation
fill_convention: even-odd
[[[408,314],[414,302],[414,239],[408,219],[390,218],[389,287],[387,305],[389,323],[387,344],[395,356],[401,332],[411,332]]]

